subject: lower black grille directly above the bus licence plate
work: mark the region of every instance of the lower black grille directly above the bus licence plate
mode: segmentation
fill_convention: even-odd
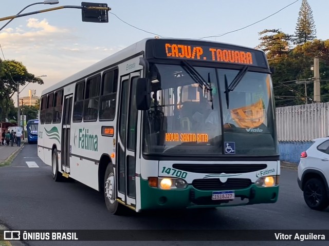
[[[248,178],[228,178],[225,183],[219,178],[194,179],[192,186],[198,190],[239,190],[245,189],[251,185]]]

